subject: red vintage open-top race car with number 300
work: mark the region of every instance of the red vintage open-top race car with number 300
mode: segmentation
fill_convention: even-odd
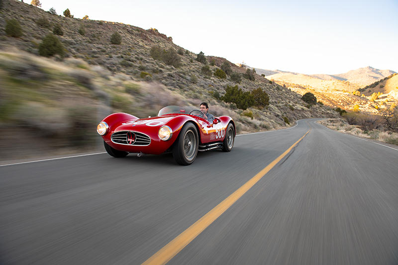
[[[126,113],[113,113],[97,126],[105,150],[112,157],[125,157],[129,153],[159,155],[173,152],[181,165],[190,165],[198,151],[221,148],[232,150],[235,123],[229,116],[204,119],[199,109],[167,106],[158,116],[139,119]]]

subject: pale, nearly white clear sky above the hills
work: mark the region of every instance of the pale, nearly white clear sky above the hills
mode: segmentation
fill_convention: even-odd
[[[25,2],[27,2],[25,0]],[[398,72],[398,0],[42,0],[74,17],[156,28],[194,53],[255,68]]]

